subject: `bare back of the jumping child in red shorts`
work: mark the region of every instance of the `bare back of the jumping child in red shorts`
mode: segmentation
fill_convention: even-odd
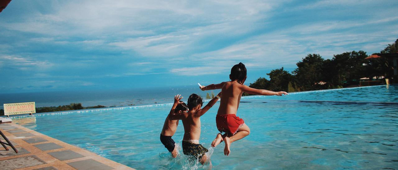
[[[222,98],[220,100],[218,115],[236,114],[239,107],[240,97],[242,97],[241,84],[236,81],[225,82],[221,89]]]

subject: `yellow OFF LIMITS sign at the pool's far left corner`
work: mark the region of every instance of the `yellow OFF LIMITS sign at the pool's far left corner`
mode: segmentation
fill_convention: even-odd
[[[36,113],[35,102],[4,104],[4,115]]]

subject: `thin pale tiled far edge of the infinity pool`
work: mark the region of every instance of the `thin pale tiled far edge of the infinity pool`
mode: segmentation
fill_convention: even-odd
[[[337,91],[337,90],[345,90],[345,89],[359,89],[359,88],[369,88],[369,87],[380,87],[380,86],[387,86],[387,85],[374,85],[374,86],[362,86],[362,87],[349,87],[349,88],[340,88],[340,89],[325,89],[325,90],[312,90],[312,91],[298,91],[289,93],[289,95],[297,95],[303,93],[312,93],[312,92],[323,92],[323,91]],[[242,99],[250,99],[250,98],[261,98],[265,96],[261,95],[251,95],[251,96],[242,96]],[[210,101],[211,99],[204,100],[205,102]],[[85,113],[85,112],[92,112],[92,111],[105,111],[105,110],[123,110],[126,108],[143,108],[143,107],[154,107],[154,106],[170,106],[173,103],[164,103],[164,104],[148,104],[148,105],[140,105],[140,106],[118,106],[118,107],[107,107],[107,108],[92,108],[92,109],[82,109],[82,110],[68,110],[68,111],[60,111],[60,112],[42,112],[42,113],[34,113],[32,115],[29,114],[20,114],[20,115],[10,115],[10,117],[27,117],[33,115],[43,115],[43,114],[70,114],[70,113]],[[0,116],[6,117],[6,116]]]

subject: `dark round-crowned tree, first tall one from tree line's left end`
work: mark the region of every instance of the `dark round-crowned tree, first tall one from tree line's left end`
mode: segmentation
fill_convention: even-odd
[[[292,73],[298,87],[303,91],[320,89],[317,84],[322,80],[322,64],[324,59],[319,54],[308,54],[298,62],[297,69]]]

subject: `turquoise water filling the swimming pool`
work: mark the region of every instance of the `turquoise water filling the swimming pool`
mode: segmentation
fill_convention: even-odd
[[[248,137],[209,149],[213,169],[398,168],[398,86],[377,86],[242,99]],[[218,133],[215,104],[201,118],[200,143]],[[171,105],[41,114],[14,118],[72,145],[136,169],[208,168],[172,159],[159,141]],[[19,120],[17,120],[19,119]],[[182,124],[173,139],[180,144]],[[180,151],[182,153],[182,151]]]

